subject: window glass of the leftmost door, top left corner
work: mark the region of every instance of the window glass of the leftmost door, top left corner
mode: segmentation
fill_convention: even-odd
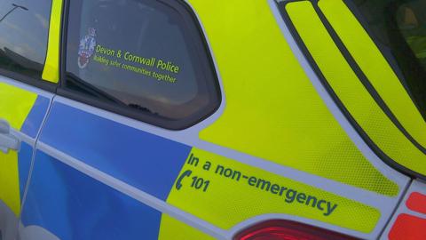
[[[0,68],[41,78],[51,0],[0,0]]]

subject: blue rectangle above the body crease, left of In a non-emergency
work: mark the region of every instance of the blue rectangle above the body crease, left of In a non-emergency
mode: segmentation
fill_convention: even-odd
[[[41,141],[166,200],[191,148],[54,102]]]

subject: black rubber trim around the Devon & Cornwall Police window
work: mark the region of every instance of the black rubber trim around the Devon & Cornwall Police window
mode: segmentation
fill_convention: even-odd
[[[217,69],[215,68],[215,64],[213,61],[213,57],[211,52],[209,51],[209,45],[206,40],[206,36],[201,28],[201,23],[197,19],[193,9],[185,3],[185,1],[173,1],[173,0],[157,0],[158,2],[167,5],[171,9],[177,11],[183,19],[183,24],[186,28],[188,28],[188,34],[193,36],[193,42],[198,42],[195,45],[197,52],[196,54],[200,55],[198,59],[201,60],[202,69],[198,69],[207,76],[204,81],[214,86],[214,90],[209,88],[209,93],[214,97],[214,102],[212,102],[209,106],[201,109],[197,113],[197,115],[190,116],[183,120],[171,120],[165,117],[155,116],[150,113],[145,113],[142,111],[138,111],[132,108],[122,108],[120,106],[114,105],[112,103],[102,102],[100,100],[96,100],[91,98],[90,96],[84,95],[80,92],[74,92],[66,88],[67,81],[67,73],[66,73],[66,61],[67,61],[67,26],[68,26],[68,15],[69,15],[69,4],[70,0],[65,0],[64,3],[64,11],[63,11],[63,22],[62,22],[62,31],[61,31],[61,59],[60,59],[60,84],[58,88],[58,95],[77,100],[86,104],[89,104],[93,107],[102,108],[106,111],[114,112],[116,114],[122,116],[128,116],[130,118],[134,118],[141,122],[145,122],[147,124],[153,124],[155,126],[159,126],[169,130],[184,130],[189,128],[195,124],[201,123],[203,120],[213,115],[222,103],[222,93],[220,91],[220,85],[217,76]],[[196,31],[192,31],[190,25],[193,25],[196,28]]]

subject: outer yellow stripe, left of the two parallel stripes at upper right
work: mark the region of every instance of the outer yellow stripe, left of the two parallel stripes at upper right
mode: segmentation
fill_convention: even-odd
[[[286,9],[327,82],[370,139],[398,164],[426,174],[426,156],[375,103],[328,35],[311,2],[290,3]]]

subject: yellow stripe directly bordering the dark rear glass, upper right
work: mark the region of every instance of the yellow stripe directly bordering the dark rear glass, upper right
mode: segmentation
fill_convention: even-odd
[[[426,147],[426,123],[422,115],[351,10],[342,0],[320,0],[319,8],[399,123]]]

